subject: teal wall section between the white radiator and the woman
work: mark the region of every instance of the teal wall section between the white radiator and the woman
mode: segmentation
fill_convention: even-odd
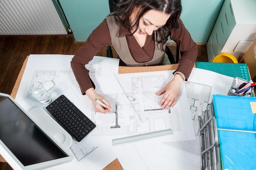
[[[85,41],[110,13],[108,0],[59,0],[76,41]]]

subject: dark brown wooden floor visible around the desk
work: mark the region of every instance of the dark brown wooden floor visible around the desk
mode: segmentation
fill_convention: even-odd
[[[22,64],[30,54],[74,55],[83,42],[76,42],[68,35],[0,35],[0,92],[11,94]],[[169,46],[176,55],[176,46]],[[112,48],[113,49],[113,48]],[[106,56],[106,49],[99,53]],[[114,57],[117,56],[113,51]],[[208,62],[206,45],[198,45],[197,61]],[[0,163],[0,170],[12,170],[7,163]]]

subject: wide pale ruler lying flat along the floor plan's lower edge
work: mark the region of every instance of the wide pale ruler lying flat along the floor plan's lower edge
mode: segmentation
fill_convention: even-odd
[[[128,137],[112,139],[112,145],[125,144],[125,143],[131,142],[131,141],[138,141],[138,140],[142,140],[142,139],[148,139],[148,138],[159,137],[159,136],[163,136],[163,135],[172,135],[172,134],[173,134],[172,129],[148,132],[148,133],[139,134],[139,135],[133,135],[133,136],[128,136]]]

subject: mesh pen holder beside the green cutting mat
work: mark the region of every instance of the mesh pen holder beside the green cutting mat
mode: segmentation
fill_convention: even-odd
[[[252,96],[253,87],[249,88],[248,90],[245,89],[245,91],[239,90],[245,86],[245,84],[248,84],[249,82],[245,79],[241,79],[239,77],[235,77],[233,79],[231,88],[229,89],[229,92],[227,95],[229,96],[244,96],[244,97],[250,97]]]

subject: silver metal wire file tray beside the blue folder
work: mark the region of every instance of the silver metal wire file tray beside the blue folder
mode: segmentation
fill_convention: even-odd
[[[201,170],[221,170],[220,147],[213,103],[208,104],[199,119]]]

